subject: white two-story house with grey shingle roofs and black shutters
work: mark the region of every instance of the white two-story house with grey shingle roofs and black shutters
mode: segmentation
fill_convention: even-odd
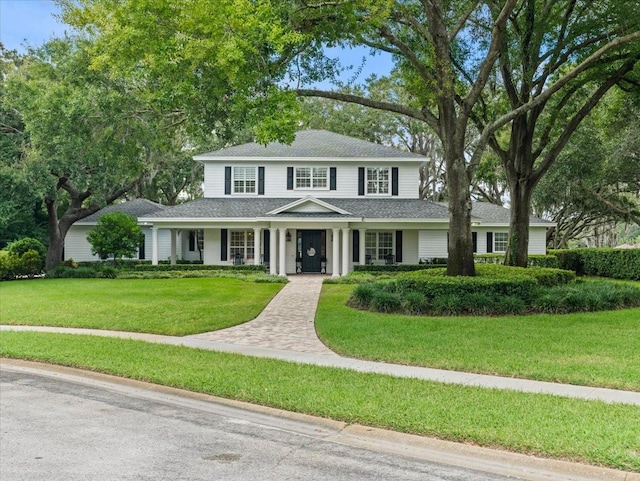
[[[138,216],[147,236],[139,257],[333,276],[447,257],[448,209],[419,199],[420,155],[307,130],[291,145],[249,143],[194,159],[204,164],[204,198]],[[474,250],[504,252],[509,211],[476,203],[472,215]],[[546,252],[551,225],[531,219],[530,254]]]

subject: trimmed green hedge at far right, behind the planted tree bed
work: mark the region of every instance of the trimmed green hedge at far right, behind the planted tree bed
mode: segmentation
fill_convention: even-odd
[[[578,275],[640,281],[640,249],[566,249],[551,251],[561,269]]]

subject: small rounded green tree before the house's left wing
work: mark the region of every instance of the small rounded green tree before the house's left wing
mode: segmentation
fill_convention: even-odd
[[[87,234],[91,253],[114,262],[123,257],[133,257],[144,240],[137,220],[123,212],[100,216],[96,226]]]

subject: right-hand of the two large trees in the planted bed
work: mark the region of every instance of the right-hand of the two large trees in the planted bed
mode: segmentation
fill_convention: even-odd
[[[474,112],[509,185],[506,263],[527,265],[534,189],[589,112],[615,86],[637,89],[638,11],[638,0],[521,0],[509,16],[496,87]]]

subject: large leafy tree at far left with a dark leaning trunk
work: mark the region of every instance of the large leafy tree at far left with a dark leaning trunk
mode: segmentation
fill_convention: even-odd
[[[87,45],[51,41],[5,84],[6,105],[29,139],[13,171],[35,186],[47,211],[47,270],[61,261],[69,227],[134,188],[153,161],[144,104],[130,85],[90,68]]]

